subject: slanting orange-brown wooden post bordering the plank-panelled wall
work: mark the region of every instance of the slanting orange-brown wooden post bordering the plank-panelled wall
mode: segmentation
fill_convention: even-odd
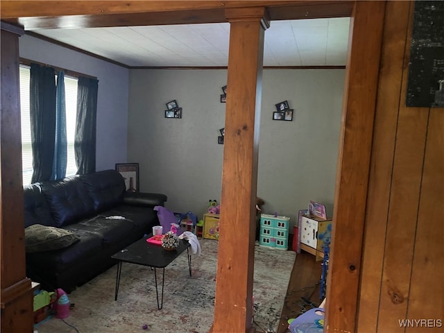
[[[386,1],[356,1],[350,22],[327,276],[328,332],[355,332],[356,327],[385,6]]]

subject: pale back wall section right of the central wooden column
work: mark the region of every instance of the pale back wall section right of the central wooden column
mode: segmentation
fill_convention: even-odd
[[[264,71],[257,194],[266,212],[295,221],[314,200],[332,216],[344,79],[342,69]],[[293,121],[273,121],[285,100]]]

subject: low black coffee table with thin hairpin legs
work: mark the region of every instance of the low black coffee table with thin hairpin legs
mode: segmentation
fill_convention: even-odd
[[[130,264],[137,264],[142,266],[149,266],[154,268],[154,280],[155,280],[155,294],[157,297],[157,309],[162,309],[164,302],[164,278],[165,267],[174,261],[179,255],[187,250],[188,257],[188,269],[189,276],[191,276],[191,255],[189,254],[189,242],[185,239],[179,240],[179,246],[176,250],[164,250],[162,246],[148,243],[146,239],[150,238],[151,234],[142,239],[139,239],[135,243],[131,244],[127,248],[123,248],[115,255],[111,257],[118,260],[117,264],[117,278],[116,278],[116,292],[114,300],[117,300],[117,293],[119,293],[120,275],[122,270],[122,263],[128,262]],[[159,291],[157,288],[157,268],[162,268],[162,294],[159,301]]]

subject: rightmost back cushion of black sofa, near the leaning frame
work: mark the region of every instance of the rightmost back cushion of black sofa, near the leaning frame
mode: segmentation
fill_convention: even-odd
[[[104,170],[79,176],[94,202],[94,210],[102,212],[119,205],[125,192],[125,181],[115,170]]]

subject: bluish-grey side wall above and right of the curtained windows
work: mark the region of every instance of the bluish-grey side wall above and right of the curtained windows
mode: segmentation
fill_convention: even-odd
[[[128,69],[28,35],[20,37],[19,53],[21,58],[98,78],[96,170],[127,162]]]

